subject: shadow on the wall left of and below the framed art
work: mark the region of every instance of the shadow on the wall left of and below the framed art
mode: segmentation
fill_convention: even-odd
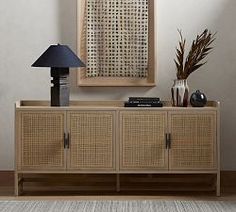
[[[62,44],[69,45],[74,52],[76,52],[77,46],[77,1],[80,2],[81,0],[59,0],[58,3],[60,41]],[[73,99],[125,99],[129,94],[144,96],[151,89],[141,87],[78,87],[75,69],[70,72],[70,83],[70,92]]]

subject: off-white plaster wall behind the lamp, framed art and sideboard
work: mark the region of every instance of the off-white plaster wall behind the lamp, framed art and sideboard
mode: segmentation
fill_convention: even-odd
[[[159,96],[170,99],[175,78],[173,58],[177,28],[191,41],[209,28],[217,41],[208,63],[189,78],[191,91],[201,89],[220,100],[221,164],[236,170],[236,1],[158,0],[158,85],[155,88],[78,88],[71,72],[71,99],[127,99]],[[0,4],[0,170],[14,167],[14,102],[49,99],[49,69],[30,65],[50,44],[76,48],[76,0],[1,0]]]

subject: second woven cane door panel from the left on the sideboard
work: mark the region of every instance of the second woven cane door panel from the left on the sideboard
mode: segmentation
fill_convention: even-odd
[[[113,113],[71,112],[69,168],[112,169]]]

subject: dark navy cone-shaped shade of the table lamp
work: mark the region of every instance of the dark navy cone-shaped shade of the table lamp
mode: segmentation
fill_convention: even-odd
[[[51,45],[32,67],[73,68],[85,67],[85,64],[66,45]]]

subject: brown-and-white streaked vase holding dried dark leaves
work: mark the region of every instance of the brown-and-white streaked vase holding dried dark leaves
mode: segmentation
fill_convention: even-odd
[[[174,80],[174,85],[171,88],[172,105],[174,107],[187,107],[189,87],[186,79]]]

